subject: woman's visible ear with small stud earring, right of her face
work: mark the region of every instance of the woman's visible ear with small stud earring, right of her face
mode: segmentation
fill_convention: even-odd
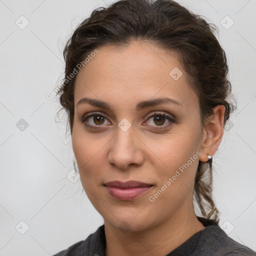
[[[224,128],[225,106],[213,107],[213,113],[206,119],[202,133],[201,154],[199,161],[208,161],[208,155],[212,156],[221,142]]]

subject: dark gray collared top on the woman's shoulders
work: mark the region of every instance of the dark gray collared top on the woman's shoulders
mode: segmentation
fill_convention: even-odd
[[[254,255],[256,252],[230,238],[219,225],[210,219],[198,217],[205,226],[166,256],[222,256]],[[105,256],[104,225],[90,234],[85,240],[74,243],[53,256]]]

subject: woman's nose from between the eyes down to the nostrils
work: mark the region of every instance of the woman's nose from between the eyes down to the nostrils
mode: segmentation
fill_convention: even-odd
[[[140,148],[142,145],[132,127],[126,131],[117,127],[116,134],[111,139],[108,162],[119,169],[126,169],[129,165],[141,165],[144,160]]]

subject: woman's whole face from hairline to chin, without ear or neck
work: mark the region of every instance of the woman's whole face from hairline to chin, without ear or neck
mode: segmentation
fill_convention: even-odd
[[[97,49],[74,89],[72,147],[89,200],[107,223],[133,231],[186,217],[202,129],[181,63],[150,43]],[[147,185],[105,185],[116,180]]]

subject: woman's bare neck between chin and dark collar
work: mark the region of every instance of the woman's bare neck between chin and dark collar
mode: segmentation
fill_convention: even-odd
[[[187,212],[187,211],[182,211]],[[171,218],[142,231],[121,232],[104,221],[106,256],[166,255],[204,226],[193,214],[176,212]]]

